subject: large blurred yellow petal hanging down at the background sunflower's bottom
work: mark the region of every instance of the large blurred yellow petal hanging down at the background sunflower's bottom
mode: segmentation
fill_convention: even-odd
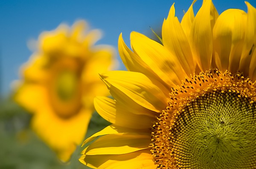
[[[91,114],[92,110],[80,110],[72,118],[62,119],[49,105],[44,105],[34,114],[32,128],[57,153],[58,158],[68,161],[84,139]]]

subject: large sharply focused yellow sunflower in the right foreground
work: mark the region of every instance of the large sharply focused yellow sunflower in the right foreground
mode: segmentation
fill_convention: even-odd
[[[181,22],[173,5],[163,45],[132,32],[131,51],[120,35],[128,71],[102,73],[113,99],[94,99],[112,124],[84,141],[94,140],[80,161],[98,169],[255,169],[256,9],[246,5],[248,13],[219,16],[204,0]]]

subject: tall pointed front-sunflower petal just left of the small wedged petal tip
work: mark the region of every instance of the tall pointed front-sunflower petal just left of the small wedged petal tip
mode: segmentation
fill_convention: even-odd
[[[186,74],[189,76],[195,72],[195,65],[189,41],[180,22],[175,17],[174,4],[172,5],[169,15],[163,22],[162,27],[163,45],[169,49],[173,56],[180,61]]]

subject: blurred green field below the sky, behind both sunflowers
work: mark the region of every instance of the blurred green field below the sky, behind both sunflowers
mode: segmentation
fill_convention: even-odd
[[[0,99],[0,169],[89,169],[78,160],[85,146],[77,147],[70,162],[59,161],[29,128],[31,116],[11,98]],[[94,113],[85,138],[108,125]]]

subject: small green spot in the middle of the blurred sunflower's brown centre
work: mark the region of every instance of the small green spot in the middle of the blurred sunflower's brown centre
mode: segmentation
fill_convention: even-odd
[[[56,92],[62,101],[69,101],[73,98],[78,78],[73,71],[63,70],[56,79]]]

